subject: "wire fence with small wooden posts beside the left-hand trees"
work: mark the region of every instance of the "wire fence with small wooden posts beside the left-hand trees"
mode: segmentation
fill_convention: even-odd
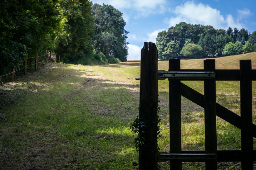
[[[47,56],[47,58],[44,59],[46,56]],[[40,57],[43,57],[43,60],[40,61],[40,62],[38,62],[38,58],[40,58]],[[27,65],[27,60],[28,60],[28,59],[32,59],[32,58],[36,58],[35,63]],[[35,68],[37,69],[38,64],[43,63],[42,65],[44,66],[44,62],[47,61],[47,63],[48,63],[49,60],[50,60],[50,62],[57,62],[57,61],[61,62],[61,60],[60,60],[60,55],[59,55],[59,60],[57,60],[57,54],[56,54],[56,53],[52,53],[52,52],[48,52],[48,51],[47,51],[47,54],[44,54],[44,55],[41,55],[41,56],[37,56],[37,55],[36,55],[35,57],[27,57],[26,59],[23,59],[22,61],[26,61],[26,62],[25,62],[25,67],[19,68],[18,70],[15,70],[15,69],[13,68],[13,70],[12,70],[11,73],[7,73],[7,74],[5,74],[5,75],[2,75],[2,76],[0,76],[0,78],[1,78],[1,77],[4,77],[4,76],[7,76],[7,75],[9,75],[9,74],[12,74],[12,81],[13,81],[13,80],[14,80],[14,76],[15,76],[15,72],[20,71],[20,70],[22,70],[22,69],[25,68],[25,75],[26,75],[28,66],[35,65]],[[63,61],[63,59],[62,59],[62,61]]]

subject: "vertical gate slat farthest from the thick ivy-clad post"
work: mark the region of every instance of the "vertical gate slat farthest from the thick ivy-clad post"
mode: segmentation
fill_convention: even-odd
[[[253,170],[252,61],[240,60],[242,169]]]

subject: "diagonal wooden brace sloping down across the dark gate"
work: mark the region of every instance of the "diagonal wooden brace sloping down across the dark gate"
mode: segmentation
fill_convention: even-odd
[[[195,104],[204,108],[204,95],[195,91],[194,89],[188,87],[187,85],[180,83],[181,86],[181,95]],[[219,116],[221,119],[226,120],[230,124],[236,126],[241,129],[241,117],[229,109],[221,106],[216,103],[216,116]],[[252,134],[253,137],[256,138],[256,125],[252,124]]]

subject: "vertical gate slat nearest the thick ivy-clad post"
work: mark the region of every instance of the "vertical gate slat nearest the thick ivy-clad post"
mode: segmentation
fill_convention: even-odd
[[[180,59],[169,60],[169,71],[180,71]],[[180,80],[169,79],[170,153],[181,153]],[[181,161],[171,161],[171,170],[181,170]]]

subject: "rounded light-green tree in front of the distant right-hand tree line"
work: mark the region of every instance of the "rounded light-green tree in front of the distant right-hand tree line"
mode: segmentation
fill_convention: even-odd
[[[188,43],[181,49],[180,54],[195,59],[202,58],[202,48],[200,45]]]

